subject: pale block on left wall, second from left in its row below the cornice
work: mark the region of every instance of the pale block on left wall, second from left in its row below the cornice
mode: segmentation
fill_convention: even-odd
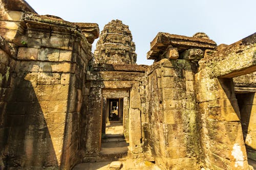
[[[59,61],[59,50],[54,48],[41,48],[37,59],[40,61]]]

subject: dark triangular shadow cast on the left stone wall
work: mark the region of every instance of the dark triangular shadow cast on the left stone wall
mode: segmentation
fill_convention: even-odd
[[[28,72],[19,72],[4,117],[5,168],[58,167],[46,118]],[[54,121],[54,120],[48,120]]]

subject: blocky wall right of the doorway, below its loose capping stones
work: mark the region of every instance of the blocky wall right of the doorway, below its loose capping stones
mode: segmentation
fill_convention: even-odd
[[[148,69],[148,140],[163,168],[199,168],[194,75],[188,60],[162,59]]]

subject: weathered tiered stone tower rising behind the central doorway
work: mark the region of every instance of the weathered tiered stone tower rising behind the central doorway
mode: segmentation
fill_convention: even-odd
[[[136,64],[135,43],[129,27],[121,20],[104,26],[94,52],[95,64]]]

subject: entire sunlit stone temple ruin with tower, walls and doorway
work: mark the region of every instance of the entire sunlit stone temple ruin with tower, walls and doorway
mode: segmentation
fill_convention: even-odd
[[[158,33],[147,66],[120,20],[99,36],[96,23],[1,0],[0,30],[0,169],[128,157],[160,169],[253,169],[256,33],[218,46],[204,33]]]

